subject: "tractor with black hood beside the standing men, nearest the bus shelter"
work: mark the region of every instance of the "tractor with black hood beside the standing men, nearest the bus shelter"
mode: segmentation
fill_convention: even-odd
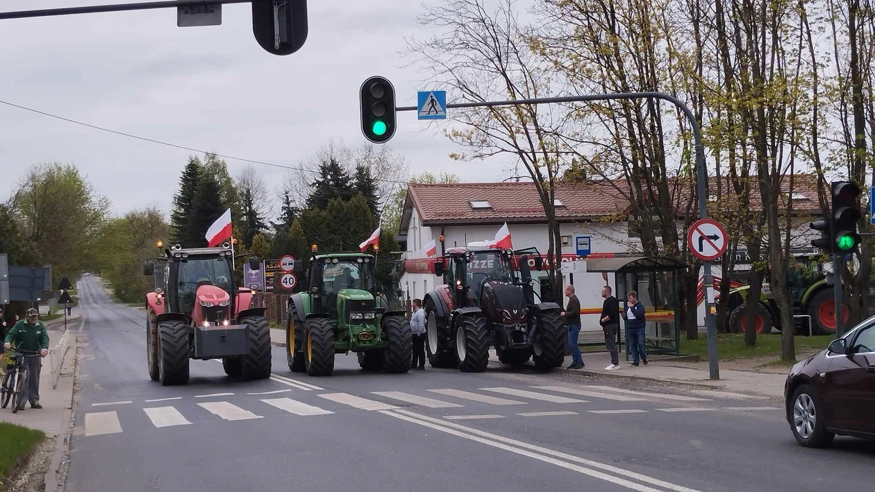
[[[489,347],[502,364],[552,371],[565,357],[562,308],[535,302],[528,255],[486,243],[452,247],[435,261],[444,285],[425,295],[426,346],[433,367],[486,371]],[[540,256],[534,258],[540,267]]]

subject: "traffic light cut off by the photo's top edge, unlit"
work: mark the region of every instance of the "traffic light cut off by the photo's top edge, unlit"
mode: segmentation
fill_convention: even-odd
[[[269,53],[297,52],[307,40],[307,0],[253,2],[252,32]]]

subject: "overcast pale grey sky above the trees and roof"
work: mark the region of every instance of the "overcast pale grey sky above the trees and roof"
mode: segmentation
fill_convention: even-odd
[[[123,0],[119,0],[123,1]],[[430,0],[436,2],[437,0]],[[0,11],[109,0],[3,0]],[[252,34],[248,3],[223,6],[221,26],[176,26],[175,10],[0,20],[0,100],[117,131],[230,156],[295,165],[334,137],[358,147],[358,91],[370,75],[415,105],[423,74],[403,67],[404,38],[426,36],[413,0],[310,0],[304,47],[278,57]],[[465,181],[509,176],[493,159],[452,161],[437,131],[399,114],[389,145],[412,172],[445,170]],[[0,176],[34,163],[74,163],[113,212],[158,204],[167,211],[191,154],[0,104]],[[246,164],[228,159],[236,175]],[[283,170],[257,166],[271,184]],[[0,178],[2,179],[2,178]],[[0,181],[0,199],[15,183]]]

